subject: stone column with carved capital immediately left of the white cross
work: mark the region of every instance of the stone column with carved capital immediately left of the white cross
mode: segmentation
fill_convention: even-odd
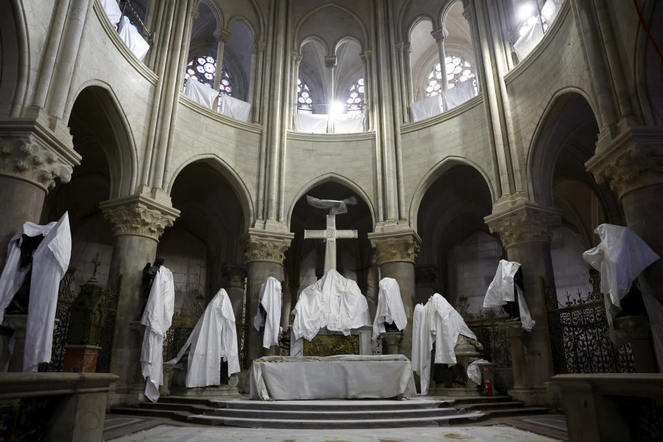
[[[249,233],[244,237],[243,245],[247,255],[247,302],[249,304],[248,361],[267,354],[267,349],[262,347],[262,333],[253,327],[253,317],[258,311],[258,297],[262,283],[270,276],[279,281],[283,280],[283,260],[285,260],[283,253],[290,247],[292,238],[294,238],[294,233],[274,233],[258,229],[249,229]]]

